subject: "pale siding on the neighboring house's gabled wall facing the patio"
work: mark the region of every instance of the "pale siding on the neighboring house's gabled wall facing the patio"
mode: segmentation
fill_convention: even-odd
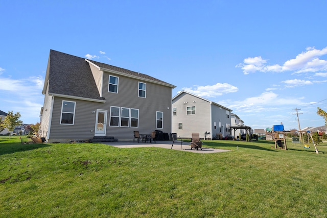
[[[186,114],[188,106],[196,107],[195,115]],[[204,132],[211,131],[210,107],[211,103],[196,96],[181,94],[173,100],[172,108],[176,108],[176,116],[172,116],[172,132],[182,138],[191,138],[192,132],[198,132],[200,138],[204,138]],[[183,129],[178,129],[178,123],[183,124]]]

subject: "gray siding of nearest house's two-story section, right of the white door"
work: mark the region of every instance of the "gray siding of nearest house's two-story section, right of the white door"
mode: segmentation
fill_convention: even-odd
[[[109,75],[119,77],[118,93],[108,92]],[[138,82],[146,83],[146,98],[138,97]],[[164,128],[157,130],[165,133],[171,132],[171,87],[105,72],[102,94],[107,100],[108,107],[107,135],[118,139],[128,139],[133,137],[133,131],[151,133],[156,130],[156,111],[164,113]],[[109,127],[110,106],[138,109],[138,128]]]

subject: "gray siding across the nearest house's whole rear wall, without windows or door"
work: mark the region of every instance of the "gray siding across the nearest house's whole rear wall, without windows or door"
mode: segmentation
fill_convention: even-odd
[[[119,77],[118,93],[108,92],[109,75]],[[113,136],[119,140],[132,140],[133,131],[150,134],[156,130],[156,111],[164,113],[162,132],[171,132],[171,97],[172,88],[155,83],[145,82],[146,98],[138,97],[138,82],[128,77],[108,74],[104,72],[102,96],[106,103],[97,103],[83,100],[73,100],[55,97],[51,122],[51,142],[69,140],[87,140],[94,137],[97,109],[107,110],[106,136]],[[61,125],[60,115],[62,101],[76,102],[74,125]],[[139,110],[138,128],[110,127],[110,107],[126,107]]]

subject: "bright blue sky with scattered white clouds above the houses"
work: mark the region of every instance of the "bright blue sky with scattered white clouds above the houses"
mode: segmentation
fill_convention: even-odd
[[[0,110],[39,122],[50,50],[139,71],[254,129],[324,125],[327,1],[0,2]]]

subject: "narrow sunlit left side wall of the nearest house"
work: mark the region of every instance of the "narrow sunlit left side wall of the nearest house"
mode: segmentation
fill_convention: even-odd
[[[43,111],[42,116],[40,119],[40,132],[39,135],[41,137],[48,137],[48,130],[49,130],[49,122],[51,116],[51,103],[52,103],[52,96],[49,96],[49,86],[46,88],[46,92],[44,95],[44,104],[43,104]]]

